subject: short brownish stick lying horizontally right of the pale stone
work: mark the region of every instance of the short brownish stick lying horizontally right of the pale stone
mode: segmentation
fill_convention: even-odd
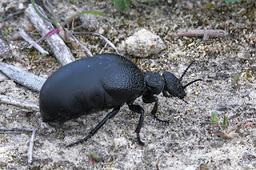
[[[208,38],[225,38],[225,30],[198,30],[198,29],[180,29],[177,32],[178,36],[186,37],[203,37],[204,40]]]

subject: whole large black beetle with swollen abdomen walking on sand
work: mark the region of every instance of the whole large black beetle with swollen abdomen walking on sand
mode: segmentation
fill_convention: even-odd
[[[182,73],[182,77],[190,65]],[[74,61],[58,69],[42,86],[39,97],[42,121],[67,121],[113,108],[88,136],[68,145],[73,146],[93,136],[126,103],[130,110],[141,114],[135,132],[138,143],[143,145],[139,132],[144,120],[144,109],[134,105],[134,100],[142,96],[143,102],[154,102],[151,113],[158,121],[162,121],[156,116],[158,97],[154,95],[162,92],[165,97],[178,97],[183,100],[186,96],[184,89],[202,80],[197,79],[182,85],[182,77],[178,79],[170,72],[164,72],[162,76],[150,71],[143,74],[133,62],[114,53],[102,53]]]

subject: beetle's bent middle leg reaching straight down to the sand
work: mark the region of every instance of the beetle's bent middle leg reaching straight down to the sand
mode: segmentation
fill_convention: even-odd
[[[141,131],[142,124],[144,121],[144,109],[139,105],[128,105],[128,106],[129,106],[129,109],[134,113],[141,113],[141,116],[139,117],[139,121],[138,121],[138,126],[135,132],[137,133],[138,144],[144,145],[144,142],[142,142],[141,137],[139,136],[139,132]]]

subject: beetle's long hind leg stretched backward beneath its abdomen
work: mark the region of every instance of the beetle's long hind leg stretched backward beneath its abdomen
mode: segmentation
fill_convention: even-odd
[[[89,135],[87,135],[85,138],[82,140],[78,140],[72,144],[67,145],[67,147],[74,146],[75,144],[82,144],[82,142],[88,140],[91,136],[94,136],[94,134],[98,131],[99,128],[102,128],[103,125],[106,124],[106,121],[109,120],[110,118],[113,118],[120,110],[120,106],[117,108],[113,109],[112,112],[108,113],[106,117],[92,130],[90,131]]]

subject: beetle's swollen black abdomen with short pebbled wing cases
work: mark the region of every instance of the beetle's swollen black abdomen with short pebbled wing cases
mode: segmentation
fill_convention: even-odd
[[[134,63],[116,54],[74,61],[53,73],[39,97],[43,121],[66,121],[133,101],[145,90]]]

